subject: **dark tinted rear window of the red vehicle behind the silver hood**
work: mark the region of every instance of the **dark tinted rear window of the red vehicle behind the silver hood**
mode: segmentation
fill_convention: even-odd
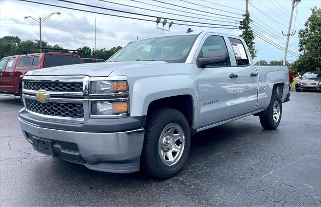
[[[72,55],[45,55],[44,68],[62,66],[62,65],[73,65],[83,63],[78,56]]]

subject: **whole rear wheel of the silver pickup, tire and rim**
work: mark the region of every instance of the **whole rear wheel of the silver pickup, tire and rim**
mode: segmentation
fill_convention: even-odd
[[[260,116],[260,123],[264,129],[276,129],[281,121],[281,96],[274,93],[266,110],[265,116]]]

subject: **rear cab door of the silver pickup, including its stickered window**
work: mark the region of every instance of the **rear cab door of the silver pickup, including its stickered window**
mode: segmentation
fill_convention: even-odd
[[[239,75],[239,115],[253,112],[257,104],[258,74],[250,61],[245,43],[237,38],[229,38],[234,51]]]

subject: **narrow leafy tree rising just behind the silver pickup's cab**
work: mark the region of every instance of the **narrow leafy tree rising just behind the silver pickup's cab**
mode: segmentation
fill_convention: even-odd
[[[245,18],[242,21],[242,34],[240,35],[240,37],[244,39],[247,47],[249,48],[251,56],[254,59],[256,57],[257,50],[255,49],[255,36],[250,27],[251,22],[252,20],[250,18],[250,13],[246,13]]]

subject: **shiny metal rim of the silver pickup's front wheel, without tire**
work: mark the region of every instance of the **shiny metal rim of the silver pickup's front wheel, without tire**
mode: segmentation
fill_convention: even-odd
[[[158,141],[158,154],[167,166],[176,164],[184,151],[185,136],[183,128],[177,123],[165,127]]]

